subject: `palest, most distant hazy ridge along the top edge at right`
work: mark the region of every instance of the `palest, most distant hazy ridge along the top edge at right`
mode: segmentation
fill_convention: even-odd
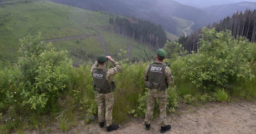
[[[223,5],[223,4],[231,4],[237,2],[256,2],[256,0],[174,0],[184,5],[189,5],[198,8],[204,8],[214,5]]]

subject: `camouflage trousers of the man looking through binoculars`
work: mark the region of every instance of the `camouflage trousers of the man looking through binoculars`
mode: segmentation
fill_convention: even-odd
[[[112,125],[112,110],[114,105],[113,92],[106,94],[97,93],[97,105],[99,122],[103,122],[105,119],[104,110],[106,106],[106,125],[107,127]]]

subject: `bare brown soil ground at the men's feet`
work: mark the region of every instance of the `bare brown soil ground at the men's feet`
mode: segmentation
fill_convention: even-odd
[[[176,113],[169,113],[167,120],[172,126],[167,134],[256,134],[256,104],[239,101],[237,103],[206,103],[199,107],[183,105]],[[150,130],[145,130],[143,118],[133,118],[112,132],[95,122],[85,125],[80,121],[70,128],[68,134],[158,134],[159,118],[153,120]],[[51,133],[63,134],[57,127],[51,127]],[[37,133],[30,131],[27,133]]]

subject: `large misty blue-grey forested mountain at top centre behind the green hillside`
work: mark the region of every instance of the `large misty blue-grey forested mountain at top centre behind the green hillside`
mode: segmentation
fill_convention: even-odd
[[[172,16],[195,22],[194,27],[214,22],[214,15],[201,9],[182,5],[172,0],[50,0],[74,7],[93,11],[112,12],[115,14],[146,19],[156,25],[161,24],[166,31],[177,34],[177,24]]]

